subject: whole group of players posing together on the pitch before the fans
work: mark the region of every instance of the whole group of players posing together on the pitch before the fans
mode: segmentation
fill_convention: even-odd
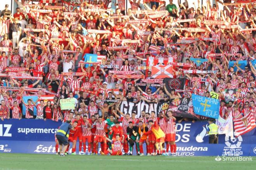
[[[65,155],[69,153],[70,144],[72,144],[72,155],[76,155],[76,142],[79,141],[79,155],[133,155],[135,144],[137,155],[144,155],[143,143],[146,143],[146,154],[150,155],[168,155],[169,148],[171,154],[176,153],[175,144],[175,121],[172,112],[166,114],[159,113],[156,117],[154,111],[150,113],[141,112],[140,118],[135,118],[136,113],[124,114],[119,109],[113,110],[109,117],[95,114],[90,116],[81,116],[70,112],[64,117],[64,122],[72,125],[68,138],[68,145]],[[119,115],[119,114],[120,115]],[[60,130],[57,131],[57,134]],[[62,130],[61,130],[62,131]],[[65,134],[65,133],[64,133]],[[56,154],[58,153],[59,140],[55,137]],[[166,150],[165,144],[166,143]],[[100,145],[99,145],[100,144]],[[65,144],[64,144],[65,145]],[[82,151],[83,148],[83,151]],[[62,156],[62,155],[61,155]]]

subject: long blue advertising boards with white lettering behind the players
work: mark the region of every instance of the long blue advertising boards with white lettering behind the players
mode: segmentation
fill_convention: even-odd
[[[55,154],[54,133],[60,125],[61,122],[51,120],[0,120],[0,153]],[[242,136],[234,133],[234,136],[237,136],[234,139],[221,134],[218,139],[219,144],[209,144],[207,126],[206,121],[176,123],[175,156],[256,156],[255,129]],[[77,153],[78,145],[77,142]],[[70,152],[71,148],[72,144]],[[87,152],[87,148],[83,147],[82,151]],[[146,154],[145,143],[144,154]],[[133,155],[136,155],[135,147]]]

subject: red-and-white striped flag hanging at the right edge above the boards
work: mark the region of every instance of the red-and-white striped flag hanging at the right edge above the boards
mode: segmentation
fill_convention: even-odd
[[[241,119],[233,119],[235,132],[245,134],[256,127],[253,112],[249,112]]]

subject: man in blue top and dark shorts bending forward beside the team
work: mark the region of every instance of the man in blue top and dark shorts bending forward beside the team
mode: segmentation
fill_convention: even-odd
[[[66,121],[61,124],[60,128],[57,130],[56,138],[59,141],[59,149],[60,149],[60,156],[65,156],[65,151],[67,150],[68,145],[68,137],[69,137],[69,130],[72,129],[75,130],[78,124],[78,121],[74,121],[73,124],[71,124],[71,121]],[[63,146],[62,146],[63,145]]]

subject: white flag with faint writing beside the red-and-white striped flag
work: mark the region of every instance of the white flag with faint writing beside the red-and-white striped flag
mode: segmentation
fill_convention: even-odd
[[[219,116],[216,125],[218,126],[218,134],[226,134],[230,136],[231,139],[234,138],[232,114],[229,114],[227,120]]]

